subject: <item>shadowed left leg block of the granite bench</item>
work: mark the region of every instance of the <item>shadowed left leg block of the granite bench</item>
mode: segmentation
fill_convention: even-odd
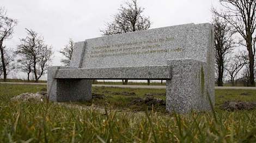
[[[66,67],[50,67],[48,69],[47,93],[50,101],[88,101],[92,99],[92,80],[54,79],[53,70]]]

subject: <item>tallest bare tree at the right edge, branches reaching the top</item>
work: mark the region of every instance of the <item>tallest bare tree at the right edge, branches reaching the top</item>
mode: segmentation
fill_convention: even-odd
[[[239,33],[243,40],[242,44],[247,47],[249,57],[249,86],[255,86],[254,83],[254,55],[255,40],[253,34],[256,28],[256,1],[255,0],[220,0],[225,8],[221,12],[215,11],[215,14],[222,17],[231,26],[234,32]]]

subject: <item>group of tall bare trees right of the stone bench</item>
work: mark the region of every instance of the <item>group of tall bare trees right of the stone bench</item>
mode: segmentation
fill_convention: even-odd
[[[242,76],[243,79],[247,79],[247,86],[255,86],[256,1],[219,1],[223,9],[212,10],[215,25],[217,84],[222,86],[223,76],[226,73],[225,76],[234,86],[236,76],[243,70]],[[237,50],[242,47],[246,50]]]

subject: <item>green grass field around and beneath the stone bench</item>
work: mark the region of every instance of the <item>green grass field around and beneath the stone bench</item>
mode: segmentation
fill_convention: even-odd
[[[0,142],[255,142],[256,110],[223,111],[225,101],[256,101],[256,90],[216,90],[214,111],[167,113],[139,102],[164,89],[94,87],[90,102],[11,101],[39,85],[0,84]],[[147,95],[150,94],[150,95]]]

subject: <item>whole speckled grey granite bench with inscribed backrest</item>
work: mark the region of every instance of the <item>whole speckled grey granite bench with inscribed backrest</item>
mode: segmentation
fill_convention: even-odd
[[[48,69],[51,101],[92,99],[92,80],[166,80],[166,109],[208,111],[214,95],[212,25],[185,24],[75,43],[70,67]]]

